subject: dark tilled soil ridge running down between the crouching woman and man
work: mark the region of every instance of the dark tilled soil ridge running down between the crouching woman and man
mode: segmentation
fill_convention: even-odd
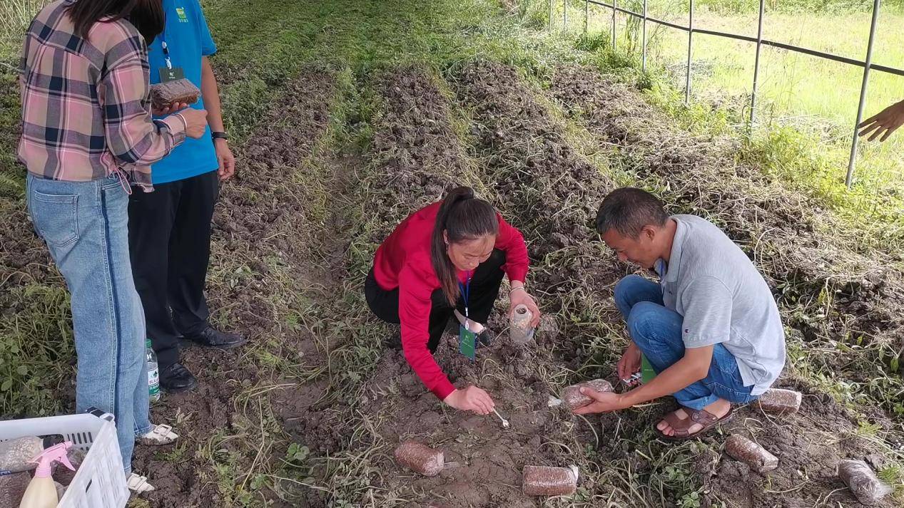
[[[601,255],[593,225],[615,183],[574,150],[564,125],[516,69],[478,60],[453,79],[459,100],[473,112],[475,156],[494,182],[496,202],[528,241],[530,284],[548,295],[542,309],[556,312],[575,291],[605,291],[617,282],[625,270]],[[563,354],[583,346],[579,334],[563,330],[563,336],[574,341],[563,345]]]

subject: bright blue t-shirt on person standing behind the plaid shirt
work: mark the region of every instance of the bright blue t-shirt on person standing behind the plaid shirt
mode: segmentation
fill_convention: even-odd
[[[163,0],[166,26],[147,48],[151,66],[151,84],[160,82],[160,69],[166,67],[162,42],[170,53],[174,68],[182,68],[185,78],[201,88],[201,58],[217,51],[207,20],[198,0]],[[190,107],[204,108],[203,98]],[[200,139],[185,138],[163,160],[151,166],[151,181],[166,183],[184,180],[219,169],[217,153],[213,148],[211,128],[207,127]]]

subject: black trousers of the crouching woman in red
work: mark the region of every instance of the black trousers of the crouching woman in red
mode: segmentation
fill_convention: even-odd
[[[468,296],[468,316],[478,323],[486,323],[493,311],[493,305],[499,297],[499,286],[503,282],[505,272],[505,253],[495,249],[489,259],[477,265],[474,276],[471,278],[471,290]],[[367,306],[372,312],[387,323],[399,324],[399,288],[386,291],[380,287],[373,276],[373,269],[364,281],[364,296],[367,298]],[[464,315],[465,300],[459,296],[456,306],[453,308],[446,300],[446,295],[441,289],[433,291],[430,295],[432,305],[429,317],[429,340],[427,348],[430,353],[437,352],[439,339],[446,331],[448,320],[454,316],[454,310],[458,309]]]

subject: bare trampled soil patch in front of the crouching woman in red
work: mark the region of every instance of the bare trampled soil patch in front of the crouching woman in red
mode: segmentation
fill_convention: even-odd
[[[381,486],[428,491],[450,506],[535,506],[521,492],[523,466],[567,466],[553,443],[571,440],[568,419],[547,405],[551,387],[538,375],[535,356],[531,346],[517,348],[505,336],[478,348],[476,362],[458,353],[457,337],[451,334],[438,348],[438,364],[457,387],[476,384],[491,394],[497,411],[511,423],[503,429],[493,413],[481,416],[445,407],[411,373],[400,351],[385,351],[365,388],[362,410],[380,414],[376,430],[387,445],[417,439],[441,449],[446,467],[436,478],[423,478],[378,463],[399,470]]]

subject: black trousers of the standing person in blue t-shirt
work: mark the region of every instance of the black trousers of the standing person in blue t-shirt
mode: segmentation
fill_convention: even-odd
[[[161,371],[179,361],[179,337],[201,332],[210,317],[204,280],[219,192],[211,171],[137,190],[128,201],[132,274]]]

